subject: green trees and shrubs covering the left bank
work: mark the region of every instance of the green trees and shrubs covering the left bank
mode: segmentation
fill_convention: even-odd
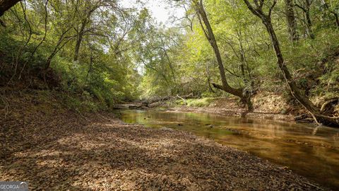
[[[52,0],[45,5],[27,1],[1,17],[6,23],[0,27],[1,82],[48,86],[64,92],[67,107],[79,111],[105,110],[136,99],[140,75],[131,57],[134,50],[127,47],[137,36],[127,34],[140,31],[149,15],[130,9],[121,15],[112,8],[114,1]],[[47,74],[47,68],[52,72]]]

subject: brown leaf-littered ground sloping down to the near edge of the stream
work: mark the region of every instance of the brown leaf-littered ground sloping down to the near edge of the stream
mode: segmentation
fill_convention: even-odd
[[[326,190],[188,132],[128,125],[14,93],[0,110],[0,180],[30,190]]]

